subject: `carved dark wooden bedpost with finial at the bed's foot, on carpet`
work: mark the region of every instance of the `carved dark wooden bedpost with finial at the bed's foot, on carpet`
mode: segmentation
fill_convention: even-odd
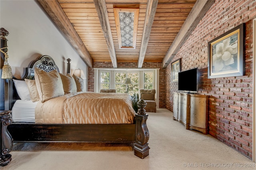
[[[149,132],[148,127],[146,125],[146,121],[148,119],[148,114],[146,114],[146,107],[147,103],[141,99],[138,103],[138,112],[135,117],[136,123],[136,130],[135,130],[135,145],[134,145],[134,154],[140,158],[145,158],[149,155],[148,147],[148,139],[149,139]]]

